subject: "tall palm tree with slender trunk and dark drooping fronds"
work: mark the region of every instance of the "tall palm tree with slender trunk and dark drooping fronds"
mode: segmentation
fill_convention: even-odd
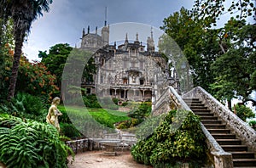
[[[52,0],[16,0],[1,1],[1,19],[11,17],[14,20],[15,54],[12,67],[12,75],[9,81],[8,100],[14,97],[15,86],[20,64],[20,55],[26,33],[30,31],[32,21],[42,16],[42,11],[49,12],[49,4]]]

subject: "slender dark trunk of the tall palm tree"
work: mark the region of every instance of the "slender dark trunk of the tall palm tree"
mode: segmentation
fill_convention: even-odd
[[[9,93],[7,100],[10,101],[11,98],[15,96],[15,87],[16,87],[16,81],[18,77],[18,70],[20,65],[20,56],[22,53],[22,45],[24,41],[25,33],[18,29],[15,31],[15,54],[14,54],[14,61],[13,61],[13,68],[12,68],[12,74],[10,76],[9,80]]]

